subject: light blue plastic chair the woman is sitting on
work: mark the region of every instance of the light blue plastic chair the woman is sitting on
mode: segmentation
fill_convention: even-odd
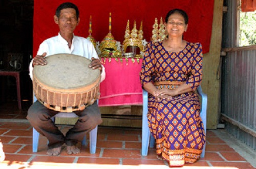
[[[204,132],[206,134],[206,110],[207,110],[207,95],[203,93],[201,86],[197,88],[198,94],[202,97],[202,106],[200,117],[204,124]],[[147,99],[148,93],[143,90],[143,114],[142,114],[142,141],[141,141],[141,155],[147,156],[148,146],[151,148],[155,145],[155,138],[150,134],[150,128],[148,127],[147,122]],[[205,154],[205,144],[203,148],[203,152],[201,154],[201,158],[204,157]]]

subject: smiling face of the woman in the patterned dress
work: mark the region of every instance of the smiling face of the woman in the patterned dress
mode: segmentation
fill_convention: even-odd
[[[169,37],[182,37],[183,33],[187,30],[187,26],[185,19],[179,13],[170,15],[167,23],[165,23],[165,29]]]

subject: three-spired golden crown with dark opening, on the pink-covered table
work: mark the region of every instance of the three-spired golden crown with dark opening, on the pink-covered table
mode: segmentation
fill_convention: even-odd
[[[124,41],[123,41],[123,51],[126,51],[126,48],[128,46],[138,46],[140,48],[140,51],[143,51],[143,31],[142,31],[142,21],[140,23],[140,29],[139,32],[136,27],[136,21],[134,21],[134,26],[132,33],[130,34],[130,25],[129,20],[127,21],[125,35],[124,35]]]

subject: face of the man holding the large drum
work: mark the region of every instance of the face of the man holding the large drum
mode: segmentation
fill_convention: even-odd
[[[59,18],[54,15],[54,21],[59,25],[59,31],[63,34],[73,34],[80,18],[76,18],[76,11],[73,8],[62,9]]]

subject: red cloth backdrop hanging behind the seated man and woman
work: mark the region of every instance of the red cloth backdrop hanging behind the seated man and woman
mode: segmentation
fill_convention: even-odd
[[[39,44],[47,38],[56,36],[59,29],[54,23],[53,16],[59,4],[67,0],[36,0],[34,1],[34,22],[33,22],[33,57]],[[187,12],[188,31],[184,33],[184,39],[189,42],[201,42],[203,52],[209,51],[211,39],[211,25],[214,11],[214,0],[70,0],[77,5],[80,11],[80,24],[75,30],[75,35],[87,37],[89,30],[89,19],[92,15],[93,37],[101,41],[109,30],[109,13],[112,13],[112,34],[115,40],[121,43],[124,40],[124,31],[127,20],[130,20],[132,30],[134,20],[137,29],[143,20],[143,32],[146,41],[152,36],[155,18],[165,18],[169,10],[180,8]]]

